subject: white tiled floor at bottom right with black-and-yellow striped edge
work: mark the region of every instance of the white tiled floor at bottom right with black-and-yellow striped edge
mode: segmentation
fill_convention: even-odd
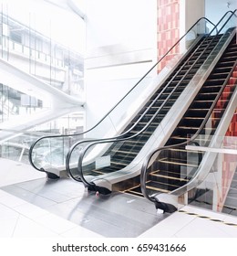
[[[181,210],[184,212],[173,213],[141,237],[237,238],[237,218],[190,206]]]

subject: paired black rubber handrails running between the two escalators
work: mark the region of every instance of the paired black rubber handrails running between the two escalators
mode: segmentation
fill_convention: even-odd
[[[230,12],[232,13],[232,11],[229,11],[229,12],[227,12],[224,16],[222,16],[222,19],[224,19],[224,17],[227,16],[228,13],[230,13]],[[230,18],[231,18],[231,17],[230,17]],[[229,19],[230,19],[230,18],[229,18]],[[217,26],[219,26],[219,24],[222,22],[222,19],[221,19],[221,20],[219,21],[219,23],[213,28],[213,30],[216,29]],[[229,20],[229,19],[228,19],[228,20]],[[226,23],[227,23],[227,22],[226,22]],[[225,23],[225,24],[226,24],[226,23]],[[225,24],[224,24],[224,26],[225,26]],[[223,28],[224,26],[222,26],[222,28]],[[222,28],[221,28],[219,31],[217,30],[218,33],[215,35],[215,37],[219,35],[219,33],[220,33],[220,31],[222,30]],[[211,30],[209,36],[211,36],[211,33],[213,32],[213,30]],[[212,38],[211,42],[215,39],[215,37]],[[209,45],[208,45],[206,48],[208,48],[208,47],[211,45],[211,42],[209,43]],[[206,49],[206,48],[205,48],[205,49]],[[203,53],[204,53],[204,50],[203,50],[202,54],[203,54]],[[201,54],[201,56],[202,56],[202,54]],[[200,56],[198,59],[200,59],[201,56]],[[192,69],[192,67],[195,65],[195,63],[197,62],[198,59],[196,59],[196,61],[192,64],[192,66],[191,66],[190,69]],[[190,70],[190,69],[189,69],[189,70]],[[188,70],[188,71],[189,71],[189,70]],[[185,74],[185,75],[186,75],[186,74]],[[184,76],[184,77],[185,77],[185,76]],[[180,83],[180,82],[179,82],[179,83]],[[168,97],[168,98],[170,98],[170,97]],[[165,104],[168,100],[169,100],[169,99],[166,99],[166,101],[164,101],[164,102],[162,103],[162,105]],[[160,106],[160,108],[162,107],[162,105]],[[157,112],[160,111],[160,108],[159,108],[159,110],[158,110]],[[138,133],[135,133],[135,134],[132,135],[132,136],[129,136],[129,137],[126,137],[126,138],[116,137],[116,138],[113,138],[113,139],[104,139],[104,140],[88,140],[88,141],[84,141],[84,142],[81,142],[81,143],[74,144],[74,145],[71,147],[71,149],[69,150],[69,152],[67,153],[66,167],[67,167],[67,173],[69,174],[69,176],[71,176],[73,179],[75,179],[75,180],[77,180],[77,181],[78,181],[78,180],[79,180],[79,181],[82,181],[82,182],[85,184],[86,187],[93,187],[94,184],[88,182],[88,181],[85,179],[85,177],[84,177],[84,175],[83,175],[83,170],[82,170],[82,160],[83,160],[84,155],[86,155],[86,153],[87,153],[87,151],[88,151],[88,148],[89,148],[90,146],[95,145],[95,144],[104,144],[104,143],[112,143],[112,142],[126,141],[126,140],[129,140],[129,139],[132,139],[132,138],[135,138],[135,137],[139,136],[140,133],[143,133],[143,132],[149,127],[149,124],[150,124],[150,123],[154,120],[154,118],[156,117],[157,112],[153,115],[153,117],[151,118],[151,120],[149,121],[149,123],[147,123],[147,125],[146,125],[142,130],[140,130]],[[70,171],[69,163],[70,163],[70,156],[71,156],[71,154],[72,154],[74,148],[76,148],[77,145],[79,145],[79,144],[88,143],[88,142],[92,142],[92,141],[93,141],[94,143],[88,144],[88,145],[80,152],[80,154],[79,154],[78,164],[77,164],[77,169],[78,169],[79,177],[73,176],[73,174],[72,174],[71,171]]]

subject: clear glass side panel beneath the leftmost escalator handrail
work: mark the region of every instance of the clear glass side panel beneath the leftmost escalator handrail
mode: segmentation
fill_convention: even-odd
[[[114,135],[121,133],[131,120],[132,116],[138,112],[139,106],[144,103],[148,95],[151,95],[155,88],[157,88],[159,81],[163,80],[170,73],[170,70],[179,63],[180,59],[183,58],[185,53],[197,43],[197,40],[200,39],[200,35],[205,35],[207,33],[207,24],[214,27],[211,21],[206,18],[201,18],[193,27],[191,27],[185,36],[181,37],[180,41],[170,48],[168,53],[155,65],[153,65],[153,67],[149,69],[149,71],[96,125],[83,133],[68,134],[64,136],[46,136],[36,141],[36,143],[33,144],[30,149],[29,159],[31,164],[34,165],[34,167],[38,170],[41,168],[47,168],[46,165],[41,165],[42,162],[37,164],[39,163],[39,161],[37,161],[37,156],[35,159],[32,157],[33,155],[37,155],[38,151],[41,151],[42,145],[44,147],[48,147],[49,149],[52,146],[54,148],[57,146],[58,151],[60,151],[59,148],[61,148],[61,146],[64,146],[64,149],[62,150],[63,152],[61,153],[61,159],[64,159],[64,164],[66,161],[65,153],[73,147],[73,152],[67,157],[69,162],[66,162],[67,164],[70,163],[70,169],[74,169],[74,165],[77,165],[77,160],[74,161],[72,159],[77,159],[77,152],[80,151],[85,145],[76,145],[75,142],[83,141],[86,138],[87,140],[89,140],[89,138],[111,138]],[[159,75],[157,75],[158,64],[162,61],[167,61],[167,59],[165,59],[166,56],[169,55],[174,48],[178,48],[179,51],[177,51],[176,55],[172,55],[173,58],[170,59],[169,63],[166,62],[166,67],[160,70]],[[52,157],[50,168],[55,168],[57,164],[57,162],[53,161]]]

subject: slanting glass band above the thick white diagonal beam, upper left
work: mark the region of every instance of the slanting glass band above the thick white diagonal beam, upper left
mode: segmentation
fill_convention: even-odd
[[[37,32],[35,23],[21,24],[4,11],[0,13],[0,57],[60,91],[83,93],[83,52],[57,43]]]

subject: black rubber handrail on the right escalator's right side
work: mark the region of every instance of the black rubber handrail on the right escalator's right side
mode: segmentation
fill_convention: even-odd
[[[233,13],[234,14],[234,13]],[[204,126],[206,125],[206,123],[208,122],[210,116],[211,116],[211,113],[213,112],[214,110],[214,107],[216,105],[216,103],[219,101],[220,97],[222,96],[222,92],[224,91],[228,81],[230,80],[231,76],[232,76],[232,72],[234,69],[236,69],[236,66],[237,66],[237,60],[235,61],[233,67],[232,67],[232,70],[230,71],[229,75],[227,76],[225,82],[222,84],[222,88],[221,90],[219,91],[219,93],[217,94],[216,98],[215,98],[215,101],[212,102],[211,104],[211,108],[210,110],[207,112],[206,116],[205,116],[205,119],[202,121],[201,123],[201,126],[200,128],[198,129],[198,131],[193,134],[191,136],[190,139],[187,139],[185,142],[182,142],[180,144],[172,144],[172,145],[167,145],[167,146],[162,146],[160,148],[157,148],[156,150],[154,150],[152,153],[150,153],[147,158],[145,159],[142,167],[141,167],[141,173],[140,173],[140,188],[141,188],[141,192],[143,194],[144,197],[148,198],[151,202],[153,203],[157,203],[154,195],[153,197],[149,197],[148,193],[147,193],[147,189],[146,189],[146,182],[147,182],[147,179],[146,179],[146,174],[147,174],[147,170],[149,168],[149,161],[150,159],[153,157],[153,155],[156,155],[156,154],[159,154],[160,151],[162,150],[168,150],[168,149],[172,149],[172,148],[175,148],[175,147],[180,147],[180,146],[183,146],[183,145],[187,145],[187,144],[191,144],[191,143],[194,143],[194,140],[199,136],[199,134],[201,133],[202,129],[204,128]],[[199,159],[200,160],[200,159]]]

